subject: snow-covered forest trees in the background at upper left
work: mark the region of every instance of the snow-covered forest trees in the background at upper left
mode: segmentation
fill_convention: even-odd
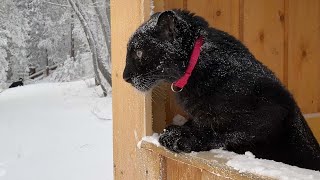
[[[28,77],[28,70],[37,68],[32,77],[37,80],[95,76],[105,91],[111,85],[107,2],[2,0],[1,81]],[[41,75],[44,71],[49,77]]]

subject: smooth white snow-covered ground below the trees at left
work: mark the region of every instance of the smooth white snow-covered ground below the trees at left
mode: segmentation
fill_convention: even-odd
[[[0,92],[0,180],[111,180],[111,98],[93,80]]]

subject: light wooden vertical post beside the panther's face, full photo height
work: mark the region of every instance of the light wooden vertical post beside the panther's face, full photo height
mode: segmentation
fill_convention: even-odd
[[[151,133],[151,98],[122,79],[129,37],[149,16],[150,1],[111,0],[113,159],[115,179],[144,179],[138,141]]]

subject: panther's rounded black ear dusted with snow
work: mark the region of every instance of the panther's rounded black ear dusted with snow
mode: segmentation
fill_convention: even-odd
[[[177,17],[173,11],[164,11],[158,17],[157,29],[162,40],[173,40],[176,36]]]

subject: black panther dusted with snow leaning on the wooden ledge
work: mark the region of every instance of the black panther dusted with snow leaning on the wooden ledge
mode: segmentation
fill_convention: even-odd
[[[160,143],[171,151],[224,148],[320,170],[320,147],[288,90],[237,39],[201,17],[173,10],[154,14],[128,43],[123,78],[140,91],[184,73],[196,39],[199,60],[176,93],[190,119],[171,125]]]

